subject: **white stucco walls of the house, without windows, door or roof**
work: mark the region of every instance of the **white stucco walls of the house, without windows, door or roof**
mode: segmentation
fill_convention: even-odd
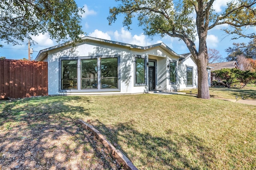
[[[120,55],[120,91],[99,91],[95,92],[86,90],[66,90],[60,91],[60,58],[68,57],[96,57],[96,56],[113,56]],[[197,88],[197,67],[191,58],[186,59],[178,64],[178,57],[172,56],[161,47],[154,47],[146,50],[132,49],[121,45],[113,45],[108,43],[86,41],[84,44],[78,45],[73,51],[70,47],[62,47],[48,51],[48,57],[44,61],[48,61],[48,94],[49,95],[95,95],[95,94],[132,94],[132,93],[147,93],[148,92],[148,67],[146,67],[146,85],[134,85],[134,55],[141,55],[148,60],[156,61],[156,90],[173,91],[177,89],[192,89]],[[169,60],[177,61],[177,82],[170,84],[169,70],[167,65]],[[186,66],[193,67],[193,86],[186,86]],[[80,68],[78,68],[78,82]],[[79,84],[79,83],[78,83]],[[98,89],[100,90],[100,89]]]

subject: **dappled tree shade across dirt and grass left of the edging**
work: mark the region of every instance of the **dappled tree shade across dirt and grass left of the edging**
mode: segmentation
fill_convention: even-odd
[[[78,100],[90,103],[88,97],[1,102],[0,169],[116,169],[102,144],[76,125],[76,114],[90,115],[68,104]]]

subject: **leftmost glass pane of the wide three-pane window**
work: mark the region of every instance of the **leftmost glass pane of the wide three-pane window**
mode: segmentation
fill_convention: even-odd
[[[61,89],[77,89],[77,60],[62,60],[61,68]]]

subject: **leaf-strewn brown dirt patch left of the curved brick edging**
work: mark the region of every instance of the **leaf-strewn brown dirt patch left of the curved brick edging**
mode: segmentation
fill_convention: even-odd
[[[48,113],[21,119],[3,111],[0,122],[0,169],[105,170],[122,166],[88,130],[74,120]]]

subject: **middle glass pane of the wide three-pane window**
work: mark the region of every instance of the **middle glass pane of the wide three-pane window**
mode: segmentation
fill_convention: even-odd
[[[97,89],[97,77],[97,59],[81,59],[81,89]]]

